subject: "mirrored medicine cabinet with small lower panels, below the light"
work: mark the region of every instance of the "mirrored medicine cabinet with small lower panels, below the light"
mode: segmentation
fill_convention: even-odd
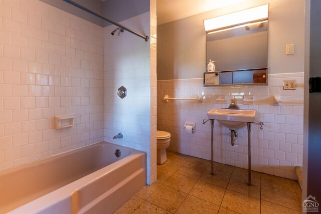
[[[206,34],[207,64],[204,86],[267,85],[268,22]]]

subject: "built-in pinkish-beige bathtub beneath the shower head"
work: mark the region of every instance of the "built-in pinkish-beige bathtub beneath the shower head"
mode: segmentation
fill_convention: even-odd
[[[100,142],[1,172],[0,213],[112,213],[144,185],[145,152]]]

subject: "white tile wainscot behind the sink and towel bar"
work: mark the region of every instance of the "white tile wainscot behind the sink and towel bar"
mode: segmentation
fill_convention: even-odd
[[[283,80],[295,79],[296,90],[283,90]],[[252,125],[251,157],[252,169],[268,174],[296,179],[295,166],[302,166],[303,153],[303,103],[272,105],[271,96],[282,100],[303,100],[303,73],[271,74],[268,86],[203,87],[203,79],[157,81],[157,129],[171,133],[171,151],[211,159],[210,124],[202,124],[212,108],[227,108],[233,96],[253,95],[254,105],[243,105],[241,109],[255,109],[255,121],[264,121],[263,130]],[[204,96],[204,102],[163,100],[169,97]],[[216,101],[225,95],[227,103]],[[258,104],[259,103],[259,104]],[[185,122],[196,123],[193,134],[186,133]],[[236,145],[230,142],[231,131],[215,121],[214,161],[248,168],[247,128],[237,130]]]

